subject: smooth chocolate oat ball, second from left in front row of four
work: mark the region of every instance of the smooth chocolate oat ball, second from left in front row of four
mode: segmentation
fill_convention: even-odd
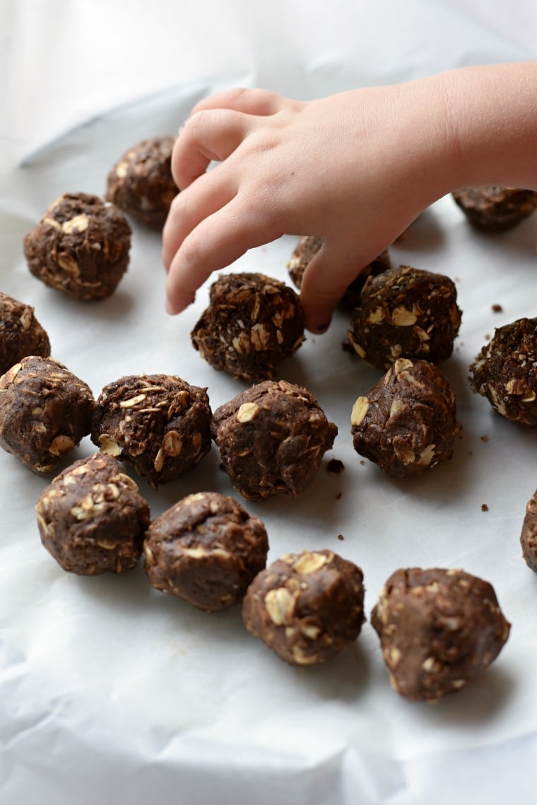
[[[233,497],[188,495],[156,518],[143,545],[153,587],[216,612],[242,601],[266,565],[265,526]]]

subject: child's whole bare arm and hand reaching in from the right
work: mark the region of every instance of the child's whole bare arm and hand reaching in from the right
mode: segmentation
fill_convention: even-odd
[[[537,190],[537,62],[458,68],[294,101],[232,89],[180,131],[180,193],[163,230],[167,311],[214,270],[283,234],[323,246],[304,272],[306,327],[324,332],[356,276],[434,201],[480,184]],[[209,163],[217,162],[208,170]]]

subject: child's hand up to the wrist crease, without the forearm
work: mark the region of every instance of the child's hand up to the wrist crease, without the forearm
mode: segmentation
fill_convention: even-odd
[[[181,192],[163,231],[168,311],[186,308],[246,250],[284,233],[316,235],[324,246],[300,298],[306,326],[322,332],[356,266],[447,192],[429,170],[449,145],[445,116],[431,114],[417,84],[309,102],[235,89],[196,105],[172,158]],[[438,109],[442,94],[429,96]]]

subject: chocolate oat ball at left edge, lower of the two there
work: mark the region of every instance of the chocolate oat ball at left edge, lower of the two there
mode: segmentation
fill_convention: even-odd
[[[52,357],[23,357],[0,377],[0,447],[33,473],[53,473],[91,430],[89,386]]]

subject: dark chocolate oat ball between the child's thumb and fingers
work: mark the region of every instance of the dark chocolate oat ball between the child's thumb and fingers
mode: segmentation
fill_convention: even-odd
[[[304,341],[298,295],[262,274],[221,275],[191,337],[214,369],[249,382],[273,379]]]

